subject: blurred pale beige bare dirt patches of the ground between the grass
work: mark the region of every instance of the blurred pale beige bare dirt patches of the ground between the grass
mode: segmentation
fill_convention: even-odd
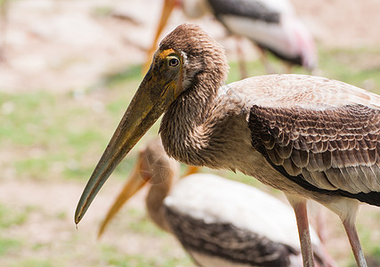
[[[323,47],[344,49],[378,47],[380,44],[378,0],[292,2]],[[161,4],[162,1],[157,0],[11,1],[7,6],[6,19],[0,19],[0,91],[23,93],[43,89],[62,93],[83,90],[96,84],[106,73],[128,64],[141,64],[145,61]],[[181,12],[174,12],[163,35],[185,20]],[[235,56],[233,40],[225,36],[217,22],[210,17],[192,21],[213,32],[227,48],[229,56]],[[254,59],[255,49],[248,44],[246,46],[247,53]],[[368,64],[372,62],[368,61]],[[72,217],[84,182],[29,182],[10,180],[4,175],[0,176],[0,203],[7,203],[15,209],[30,206],[38,211],[32,213],[28,223],[10,228],[4,237],[20,237],[39,244],[50,244],[53,240],[53,245],[38,250],[38,253],[49,255],[53,251],[62,251],[61,261],[70,259],[68,266],[76,263],[81,266],[107,265],[97,262],[98,258],[93,255],[99,250],[96,231],[113,194],[121,185],[120,181],[108,182],[107,188],[101,190],[93,202],[96,212],[86,214],[76,231]],[[130,207],[142,209],[142,196],[143,192],[133,198]],[[372,220],[366,214],[373,211],[378,213],[378,208],[364,206],[360,211],[359,224]],[[327,248],[339,247],[339,251],[351,253],[338,219],[329,212],[327,224]],[[125,230],[124,237],[127,234]],[[158,238],[152,238],[152,241],[140,239],[133,232],[129,234],[128,239],[119,239],[117,231],[111,232],[101,244],[113,244],[125,254],[143,251],[147,255],[156,255],[159,251]],[[370,239],[380,240],[379,229],[372,235]],[[126,245],[131,240],[133,247]],[[183,255],[182,248],[174,239],[166,238],[166,244],[171,247],[173,255]],[[34,252],[23,253],[27,255],[14,252],[13,257],[24,257]],[[335,256],[347,255],[343,254],[337,252]],[[12,265],[11,259],[12,256],[8,255],[3,262],[0,260],[0,265]]]

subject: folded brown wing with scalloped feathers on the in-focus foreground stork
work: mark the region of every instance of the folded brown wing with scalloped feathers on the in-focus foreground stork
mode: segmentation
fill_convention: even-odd
[[[254,147],[288,175],[350,196],[374,192],[369,194],[376,198],[372,202],[380,205],[380,109],[254,105],[249,127]],[[271,140],[271,146],[262,140]]]

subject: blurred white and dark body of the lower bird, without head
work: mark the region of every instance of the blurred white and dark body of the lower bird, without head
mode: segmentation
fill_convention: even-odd
[[[199,266],[302,266],[291,208],[260,190],[191,174],[174,184],[164,205],[172,232]]]

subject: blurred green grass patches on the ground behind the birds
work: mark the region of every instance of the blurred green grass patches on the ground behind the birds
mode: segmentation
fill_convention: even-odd
[[[378,54],[380,51],[377,48],[321,50],[319,64],[321,76],[380,93],[379,61],[377,65],[371,66],[373,64],[371,60]],[[279,61],[274,59],[271,61],[275,68],[282,68]],[[359,67],[355,64],[356,61],[360,62]],[[260,61],[249,62],[248,71],[251,76],[265,74]],[[305,73],[299,68],[295,68],[295,72]],[[93,167],[101,157],[141,79],[141,66],[131,66],[105,75],[95,85],[70,93],[45,90],[25,93],[0,92],[0,146],[2,147],[0,167],[3,170],[11,169],[10,172],[3,172],[0,180],[85,182],[93,172]],[[229,82],[239,79],[237,62],[230,62]],[[138,143],[137,148],[152,136],[158,135],[158,124],[159,122],[150,129]],[[117,167],[113,176],[125,179],[133,167],[137,151],[137,149],[131,151]],[[264,188],[260,182],[243,174],[233,174],[228,171],[216,173]],[[269,189],[264,188],[264,190]],[[25,223],[28,214],[28,209],[14,211],[9,206],[0,204],[0,229]],[[66,216],[67,214],[56,214],[57,218]],[[131,231],[153,238],[166,235],[150,223],[145,213],[130,210],[128,216],[133,219],[127,224]],[[378,214],[376,216],[372,222],[379,222]],[[359,228],[367,256],[379,262],[380,247],[371,239],[370,227],[365,224]],[[74,239],[69,239],[68,246],[74,242]],[[25,245],[21,239],[0,236],[0,255],[8,254],[23,246]],[[46,244],[33,246],[36,251],[49,247]],[[125,255],[117,247],[99,247],[101,261],[106,266],[192,266],[189,257],[175,258],[170,255],[170,247],[162,248],[163,256],[159,259],[144,255]],[[59,259],[54,260],[23,258],[11,266],[65,266],[67,257],[75,253],[71,251],[69,255],[61,255]]]

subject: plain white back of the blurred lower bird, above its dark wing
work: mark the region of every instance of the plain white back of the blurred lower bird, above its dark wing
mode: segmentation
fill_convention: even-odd
[[[175,183],[164,204],[205,223],[230,223],[299,250],[292,208],[246,184],[214,174],[191,174]],[[311,232],[319,246],[318,236]]]

